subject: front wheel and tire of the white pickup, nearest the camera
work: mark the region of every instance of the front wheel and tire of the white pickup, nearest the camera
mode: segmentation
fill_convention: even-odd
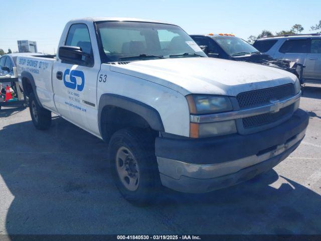
[[[114,133],[109,142],[113,180],[122,196],[138,205],[152,202],[161,187],[155,158],[155,139],[143,132],[122,129]]]

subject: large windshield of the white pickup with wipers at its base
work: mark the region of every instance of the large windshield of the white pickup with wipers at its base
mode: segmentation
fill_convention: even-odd
[[[180,27],[144,22],[98,22],[103,62],[206,57]]]

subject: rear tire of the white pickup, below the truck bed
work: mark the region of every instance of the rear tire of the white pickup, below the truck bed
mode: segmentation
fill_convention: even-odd
[[[34,93],[31,93],[29,96],[29,109],[36,129],[48,130],[51,125],[51,111],[40,106]]]

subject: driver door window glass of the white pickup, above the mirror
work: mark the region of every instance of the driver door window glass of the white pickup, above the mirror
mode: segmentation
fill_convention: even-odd
[[[74,24],[70,27],[65,45],[80,47],[83,52],[93,54],[89,31],[85,24]]]

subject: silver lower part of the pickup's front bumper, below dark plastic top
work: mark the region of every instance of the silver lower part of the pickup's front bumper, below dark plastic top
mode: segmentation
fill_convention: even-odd
[[[295,150],[304,135],[305,130],[268,151],[216,164],[190,164],[157,157],[161,181],[166,187],[189,193],[232,186],[273,168]]]

